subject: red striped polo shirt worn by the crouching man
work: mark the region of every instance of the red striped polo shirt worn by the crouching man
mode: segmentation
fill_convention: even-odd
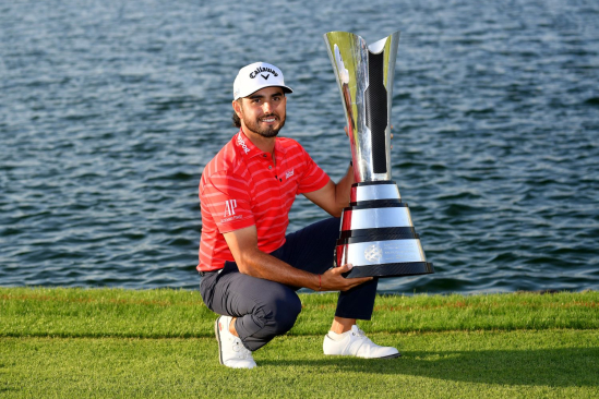
[[[320,190],[328,176],[291,138],[277,137],[275,159],[239,131],[206,165],[200,181],[202,241],[197,270],[217,270],[233,261],[223,233],[255,225],[257,247],[285,243],[296,195]]]

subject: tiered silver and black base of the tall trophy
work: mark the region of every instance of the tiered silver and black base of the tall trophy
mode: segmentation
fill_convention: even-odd
[[[434,273],[414,229],[408,204],[394,181],[356,183],[344,209],[336,246],[337,266],[352,264],[345,277],[393,277]]]

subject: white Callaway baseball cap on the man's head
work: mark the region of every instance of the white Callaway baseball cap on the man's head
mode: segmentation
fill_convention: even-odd
[[[248,97],[264,87],[279,86],[285,93],[293,93],[285,85],[283,72],[273,64],[254,62],[239,70],[233,83],[233,100]]]

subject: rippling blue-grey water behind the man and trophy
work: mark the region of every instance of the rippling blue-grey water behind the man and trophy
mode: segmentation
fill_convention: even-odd
[[[238,69],[284,70],[284,135],[337,180],[322,34],[400,29],[393,178],[436,273],[381,292],[599,289],[598,21],[590,0],[4,2],[0,285],[195,289]],[[299,198],[290,229],[321,217]]]

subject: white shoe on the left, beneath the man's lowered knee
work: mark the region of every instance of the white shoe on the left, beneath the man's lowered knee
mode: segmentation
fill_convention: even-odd
[[[220,364],[231,368],[253,368],[255,367],[252,352],[248,350],[239,337],[229,331],[231,316],[220,316],[214,324],[214,332],[218,341],[218,360]]]

